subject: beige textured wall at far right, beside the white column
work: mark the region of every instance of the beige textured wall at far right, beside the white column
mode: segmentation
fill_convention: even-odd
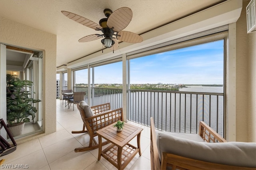
[[[256,33],[247,34],[248,2],[236,22],[236,141],[256,142]]]

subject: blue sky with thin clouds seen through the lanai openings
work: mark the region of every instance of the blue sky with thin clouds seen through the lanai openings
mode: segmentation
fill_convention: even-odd
[[[223,40],[130,60],[131,84],[223,84]],[[122,63],[94,68],[95,84],[122,84]],[[87,70],[76,83],[87,83]]]

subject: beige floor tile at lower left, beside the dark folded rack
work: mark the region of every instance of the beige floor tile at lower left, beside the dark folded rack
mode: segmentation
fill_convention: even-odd
[[[17,148],[14,152],[1,156],[1,159],[5,159],[4,163],[13,162],[19,158],[22,158],[28,154],[36,152],[42,149],[40,142],[38,139],[34,139],[32,141],[28,141],[22,144],[17,145]]]

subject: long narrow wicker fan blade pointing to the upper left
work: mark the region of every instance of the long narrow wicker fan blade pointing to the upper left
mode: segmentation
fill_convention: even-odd
[[[68,17],[69,19],[73,20],[73,21],[76,21],[86,27],[89,27],[89,28],[92,28],[92,29],[95,29],[95,30],[100,30],[102,29],[102,27],[100,25],[98,25],[97,23],[95,23],[94,21],[91,21],[91,20],[88,20],[82,16],[79,16],[79,15],[76,15],[76,14],[73,14],[71,12],[67,12],[67,11],[61,11],[62,14],[66,17]]]

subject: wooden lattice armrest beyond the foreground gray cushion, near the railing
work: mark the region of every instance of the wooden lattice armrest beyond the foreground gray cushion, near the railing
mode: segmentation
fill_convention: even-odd
[[[199,123],[199,135],[206,142],[227,142],[226,139],[220,136],[216,131],[214,131],[203,121],[200,121]]]

